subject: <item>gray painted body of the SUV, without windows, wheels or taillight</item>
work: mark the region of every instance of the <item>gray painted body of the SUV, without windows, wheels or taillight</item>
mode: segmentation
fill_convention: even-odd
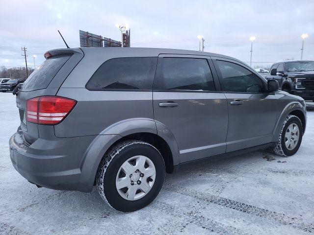
[[[19,92],[17,106],[40,95],[59,95],[78,101],[70,115],[55,126],[27,122],[10,139],[14,167],[29,181],[47,188],[91,191],[105,152],[124,136],[152,133],[169,145],[173,164],[206,158],[275,142],[284,118],[294,110],[305,116],[302,98],[283,92],[228,94],[221,92],[211,59],[232,60],[259,76],[242,62],[207,52],[159,48],[78,48],[52,50],[74,57],[61,68],[47,89]],[[162,55],[163,54],[163,55]],[[217,92],[88,91],[85,84],[106,60],[136,56],[207,58]],[[71,64],[69,64],[71,63]],[[243,105],[230,101],[241,99]],[[177,101],[178,107],[159,107]],[[229,113],[228,113],[229,110]],[[21,127],[23,124],[21,124]],[[16,139],[25,138],[29,147]],[[23,148],[24,146],[24,148]],[[24,149],[24,150],[23,150]]]

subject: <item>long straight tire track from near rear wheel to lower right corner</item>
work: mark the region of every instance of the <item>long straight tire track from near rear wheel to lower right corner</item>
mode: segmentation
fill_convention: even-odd
[[[219,206],[224,206],[226,208],[230,208],[236,211],[241,211],[243,213],[256,215],[256,216],[266,218],[266,219],[271,219],[271,220],[279,222],[280,224],[288,225],[295,229],[302,230],[304,232],[314,233],[314,224],[304,224],[301,221],[301,219],[296,218],[296,217],[289,217],[285,214],[281,214],[275,211],[270,211],[267,209],[259,208],[256,206],[252,206],[252,205],[238,202],[235,200],[231,200],[228,198],[215,196],[209,193],[196,191],[190,188],[182,188],[180,186],[175,186],[171,184],[165,184],[163,188],[172,192],[185,195],[185,196],[193,197],[198,200],[206,201],[206,202],[213,203]]]

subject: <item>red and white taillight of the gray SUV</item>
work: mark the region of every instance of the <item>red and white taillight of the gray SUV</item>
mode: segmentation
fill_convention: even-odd
[[[27,100],[27,121],[45,125],[59,124],[77,101],[59,96],[40,96]]]

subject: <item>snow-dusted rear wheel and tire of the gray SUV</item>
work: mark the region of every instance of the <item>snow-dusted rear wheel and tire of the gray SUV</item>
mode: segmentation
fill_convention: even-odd
[[[97,171],[96,185],[111,208],[131,212],[146,207],[156,198],[164,178],[165,164],[153,145],[144,141],[123,141],[105,154]],[[116,185],[121,182],[126,187]]]

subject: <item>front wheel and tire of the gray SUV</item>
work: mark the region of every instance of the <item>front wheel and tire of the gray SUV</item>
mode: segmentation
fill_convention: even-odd
[[[297,130],[295,127],[297,126],[298,134],[295,133],[294,135],[289,135],[291,125],[293,128],[295,128],[293,129],[292,133]],[[287,129],[289,130],[287,131]],[[287,133],[288,138],[286,137],[286,133]],[[297,135],[298,135],[298,141],[296,142],[295,138],[297,137]],[[284,121],[283,127],[281,128],[280,135],[279,135],[278,141],[276,142],[276,146],[273,149],[273,152],[279,156],[284,156],[284,157],[294,155],[300,147],[300,144],[302,142],[302,136],[303,136],[303,128],[302,128],[301,120],[294,115],[288,115],[288,117]],[[289,142],[287,142],[288,144],[288,147],[287,147],[286,141],[288,141],[290,137],[291,139],[293,138],[294,141],[293,140],[290,141],[290,144]]]

